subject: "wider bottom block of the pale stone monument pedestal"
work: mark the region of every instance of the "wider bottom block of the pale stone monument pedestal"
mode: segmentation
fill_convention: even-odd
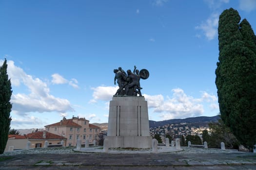
[[[105,136],[109,148],[152,148],[152,136]]]

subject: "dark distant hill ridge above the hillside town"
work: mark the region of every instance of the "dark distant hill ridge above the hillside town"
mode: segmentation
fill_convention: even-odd
[[[163,126],[166,124],[178,124],[178,123],[193,123],[197,125],[207,125],[209,122],[217,122],[218,119],[220,119],[219,116],[213,116],[213,117],[206,117],[206,116],[200,116],[195,118],[185,118],[185,119],[169,119],[169,120],[163,120],[163,121],[153,121],[149,120],[149,127],[154,128],[158,126]]]

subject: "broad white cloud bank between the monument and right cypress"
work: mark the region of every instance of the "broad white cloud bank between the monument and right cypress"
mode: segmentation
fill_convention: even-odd
[[[164,100],[162,95],[150,96],[144,94],[148,107],[153,108],[153,112],[159,113],[161,119],[188,118],[200,116],[204,113],[203,102],[209,102],[210,109],[218,109],[217,97],[202,92],[200,98],[187,96],[180,88],[172,90],[173,96]]]

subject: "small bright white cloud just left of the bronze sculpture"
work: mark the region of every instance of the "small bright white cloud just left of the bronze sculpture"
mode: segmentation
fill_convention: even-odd
[[[117,92],[118,86],[98,86],[91,88],[93,92],[93,99],[90,102],[110,101],[113,95]]]

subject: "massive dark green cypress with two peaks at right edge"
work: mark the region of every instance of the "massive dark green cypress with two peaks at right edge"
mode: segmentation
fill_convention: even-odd
[[[218,25],[219,62],[216,85],[220,117],[250,148],[256,144],[256,36],[249,22],[233,8]]]

